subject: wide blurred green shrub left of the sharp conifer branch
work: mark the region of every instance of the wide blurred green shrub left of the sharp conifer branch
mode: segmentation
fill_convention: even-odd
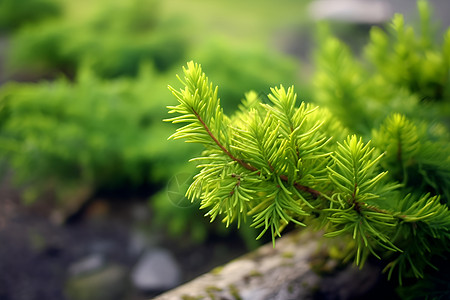
[[[167,98],[161,80],[150,68],[135,80],[111,81],[84,69],[74,83],[2,87],[0,151],[28,197],[49,186],[58,193],[167,180],[187,150],[164,141],[170,127],[159,122]]]

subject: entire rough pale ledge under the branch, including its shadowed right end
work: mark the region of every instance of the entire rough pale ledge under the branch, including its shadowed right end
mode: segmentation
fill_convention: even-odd
[[[154,299],[287,300],[314,299],[318,293],[349,299],[377,284],[380,270],[371,265],[363,270],[347,266],[332,277],[314,272],[310,263],[317,256],[320,239],[310,232],[287,234],[275,248],[264,245]]]

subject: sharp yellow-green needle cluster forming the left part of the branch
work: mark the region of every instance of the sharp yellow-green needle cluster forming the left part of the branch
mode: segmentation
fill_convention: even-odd
[[[252,110],[251,119],[241,120],[241,124],[253,126],[248,129],[227,126],[230,119],[224,116],[219,105],[217,88],[208,83],[198,66],[191,63],[189,67],[185,70],[186,88],[179,92],[173,90],[180,104],[171,107],[171,112],[181,115],[170,119],[174,123],[189,123],[178,129],[174,138],[186,138],[208,148],[203,157],[196,159],[201,161],[202,171],[188,191],[189,198],[204,199],[202,207],[209,209],[207,214],[215,219],[224,213],[227,224],[235,219],[240,223],[249,212],[254,216],[254,225],[263,227],[263,233],[270,229],[273,236],[280,235],[280,228],[289,221],[300,224],[293,216],[305,215],[303,206],[310,204],[294,185],[324,177],[323,164],[319,162],[328,156],[325,151],[312,151],[324,148],[327,143],[317,132],[320,121],[307,118],[312,108],[295,108],[292,88],[286,91],[280,87],[269,96],[273,107],[265,105],[263,114]],[[259,126],[260,119],[264,120],[263,124],[276,126],[277,131]],[[279,134],[286,139],[280,139]],[[243,159],[254,157],[254,165],[237,158],[236,153]],[[300,155],[303,161],[298,160]],[[292,175],[291,179],[284,173]],[[298,182],[294,183],[295,178]],[[296,201],[289,201],[292,196]],[[264,201],[258,203],[257,199]]]

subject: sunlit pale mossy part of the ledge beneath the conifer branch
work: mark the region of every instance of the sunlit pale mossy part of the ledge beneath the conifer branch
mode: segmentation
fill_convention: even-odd
[[[316,239],[288,235],[155,299],[308,299],[320,277],[309,267]],[[297,284],[296,282],[301,282]]]

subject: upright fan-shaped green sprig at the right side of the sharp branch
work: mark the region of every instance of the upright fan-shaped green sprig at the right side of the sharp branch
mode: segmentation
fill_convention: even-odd
[[[338,145],[332,155],[333,164],[328,167],[334,186],[329,221],[337,227],[336,231],[326,235],[351,233],[357,244],[357,264],[361,257],[367,257],[367,251],[379,257],[374,251],[376,246],[399,251],[387,234],[392,232],[391,227],[395,226],[396,219],[392,214],[371,207],[372,204],[379,206],[379,198],[390,197],[389,192],[396,188],[382,182],[387,172],[376,169],[381,156],[373,157],[374,148],[356,136]]]

